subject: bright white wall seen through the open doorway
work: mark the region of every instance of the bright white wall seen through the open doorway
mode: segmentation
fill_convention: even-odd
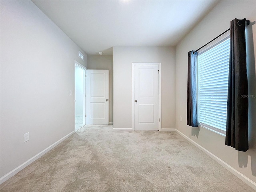
[[[84,110],[84,70],[76,66],[75,86],[76,86],[76,115],[82,115]]]

